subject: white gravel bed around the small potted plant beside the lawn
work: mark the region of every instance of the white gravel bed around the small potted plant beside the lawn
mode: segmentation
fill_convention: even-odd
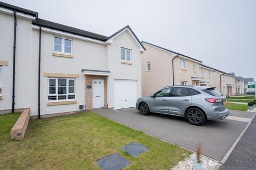
[[[196,162],[196,160],[196,154],[193,153],[188,158],[175,165],[172,170],[195,170],[193,163]],[[212,170],[218,165],[218,162],[203,156],[201,156],[200,160],[203,163],[203,170]]]

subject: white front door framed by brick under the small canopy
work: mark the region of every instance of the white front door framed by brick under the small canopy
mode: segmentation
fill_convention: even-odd
[[[104,80],[92,80],[92,108],[104,106]]]

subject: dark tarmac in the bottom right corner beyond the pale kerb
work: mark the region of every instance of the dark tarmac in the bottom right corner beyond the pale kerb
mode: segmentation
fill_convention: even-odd
[[[238,141],[221,170],[256,169],[256,116]]]

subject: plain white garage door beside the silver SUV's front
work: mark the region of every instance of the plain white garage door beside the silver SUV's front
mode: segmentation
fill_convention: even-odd
[[[137,80],[114,80],[114,109],[135,107]]]

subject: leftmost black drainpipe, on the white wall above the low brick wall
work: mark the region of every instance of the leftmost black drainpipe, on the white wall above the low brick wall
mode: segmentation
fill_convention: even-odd
[[[16,57],[16,29],[17,29],[17,17],[16,11],[13,10],[14,16],[14,35],[13,35],[13,69],[12,69],[12,113],[14,113],[15,105],[15,57]]]

